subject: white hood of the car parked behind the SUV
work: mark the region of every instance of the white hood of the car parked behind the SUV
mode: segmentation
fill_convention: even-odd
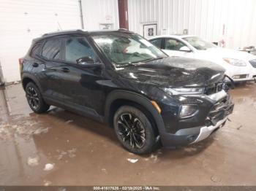
[[[256,56],[249,54],[248,52],[243,52],[239,50],[232,50],[228,48],[222,47],[214,47],[209,48],[207,50],[198,50],[200,53],[206,55],[207,57],[214,57],[214,58],[234,58],[242,61],[249,61],[255,59]]]

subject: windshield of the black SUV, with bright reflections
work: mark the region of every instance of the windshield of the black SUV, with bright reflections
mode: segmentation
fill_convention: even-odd
[[[153,44],[135,34],[108,34],[92,38],[117,67],[167,57]]]

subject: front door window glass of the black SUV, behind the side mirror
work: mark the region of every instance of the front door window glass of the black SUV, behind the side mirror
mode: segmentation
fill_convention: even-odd
[[[96,61],[96,55],[84,38],[71,38],[66,41],[66,61],[75,63],[78,58],[91,57]]]

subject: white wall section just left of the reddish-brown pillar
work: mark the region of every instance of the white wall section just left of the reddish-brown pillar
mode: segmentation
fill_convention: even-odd
[[[112,23],[119,28],[118,0],[82,0],[85,30],[99,30],[99,23]]]

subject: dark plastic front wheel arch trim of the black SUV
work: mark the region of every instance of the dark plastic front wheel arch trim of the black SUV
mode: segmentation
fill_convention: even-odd
[[[162,121],[161,114],[159,114],[157,109],[151,104],[151,101],[146,98],[146,96],[127,90],[113,90],[113,92],[109,93],[106,99],[105,121],[108,122],[110,126],[113,126],[113,116],[116,110],[124,105],[135,106],[138,109],[143,110],[142,112],[146,112],[146,115],[150,115],[149,120],[154,122],[158,133],[164,130],[165,125]]]

